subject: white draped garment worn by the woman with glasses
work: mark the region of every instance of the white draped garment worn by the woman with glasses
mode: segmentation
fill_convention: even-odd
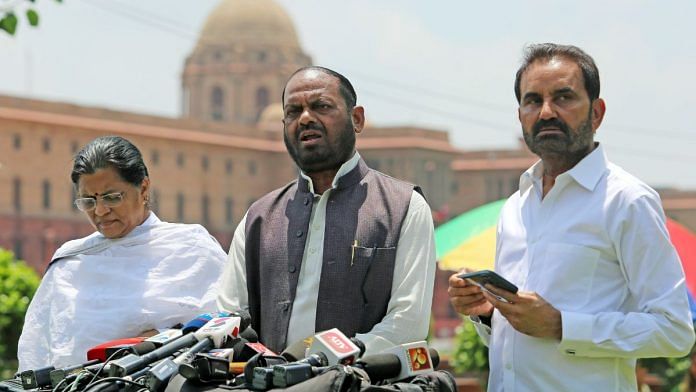
[[[154,213],[123,238],[65,243],[27,310],[20,371],[82,363],[98,344],[214,311],[225,258],[202,226]]]

